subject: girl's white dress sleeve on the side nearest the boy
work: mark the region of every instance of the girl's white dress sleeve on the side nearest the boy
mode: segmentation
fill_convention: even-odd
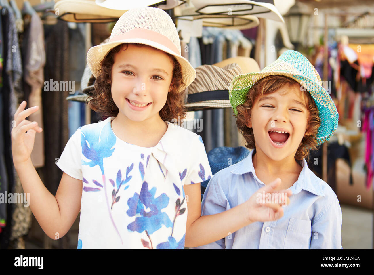
[[[189,154],[190,167],[187,169],[184,184],[200,183],[212,178],[212,171],[209,165],[208,156],[202,138],[197,135],[190,146]]]

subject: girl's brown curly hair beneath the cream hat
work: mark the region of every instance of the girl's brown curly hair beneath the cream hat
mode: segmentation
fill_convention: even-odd
[[[118,107],[114,104],[111,95],[111,71],[114,63],[114,56],[120,50],[126,50],[128,44],[132,44],[138,47],[144,47],[148,45],[137,44],[137,43],[122,43],[108,52],[105,58],[101,62],[101,69],[99,70],[98,76],[95,80],[95,90],[93,94],[87,98],[87,103],[89,107],[100,113],[102,119],[108,117],[115,117],[118,114]],[[148,46],[150,47],[150,46]],[[172,122],[172,119],[178,119],[178,116],[183,119],[186,116],[184,107],[184,95],[179,92],[179,87],[186,88],[185,83],[182,80],[181,66],[177,59],[168,53],[170,60],[174,64],[173,77],[171,81],[171,91],[168,92],[168,98],[166,100],[165,106],[159,111],[160,117],[164,121]],[[88,101],[89,100],[89,101]]]

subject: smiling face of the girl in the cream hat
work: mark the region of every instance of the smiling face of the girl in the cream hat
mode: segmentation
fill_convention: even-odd
[[[128,45],[114,56],[111,93],[119,115],[135,122],[155,122],[172,81],[169,56],[150,46]]]

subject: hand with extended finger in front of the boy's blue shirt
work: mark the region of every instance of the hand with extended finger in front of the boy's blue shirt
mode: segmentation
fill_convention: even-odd
[[[248,199],[248,220],[250,223],[256,221],[273,221],[283,217],[282,205],[289,204],[291,190],[275,190],[281,179],[277,178],[267,186],[258,189],[251,198]]]

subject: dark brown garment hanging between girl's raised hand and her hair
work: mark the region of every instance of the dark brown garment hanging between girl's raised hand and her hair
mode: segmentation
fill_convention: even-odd
[[[55,25],[44,25],[46,80],[67,81],[69,77],[69,30],[67,22],[58,20]],[[42,91],[45,145],[44,184],[52,195],[56,195],[62,177],[56,161],[68,141],[69,91]]]

